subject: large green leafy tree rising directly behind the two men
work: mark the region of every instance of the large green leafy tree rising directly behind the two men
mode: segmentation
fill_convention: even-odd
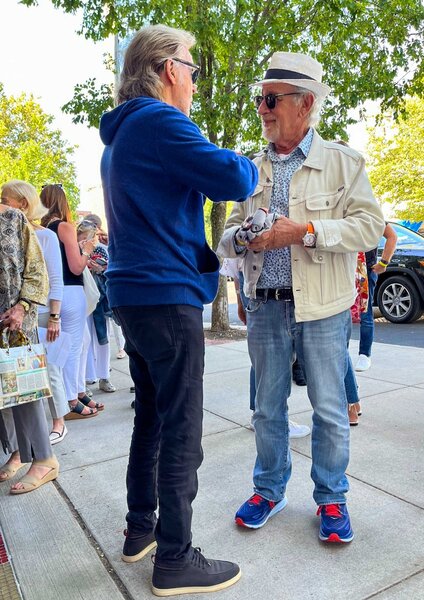
[[[262,77],[276,50],[308,53],[323,64],[333,96],[324,106],[320,131],[330,139],[347,139],[346,126],[354,122],[349,109],[360,107],[363,113],[365,100],[379,99],[384,109],[398,111],[411,86],[423,93],[421,0],[51,1],[66,12],[82,9],[81,31],[93,40],[111,34],[125,38],[145,23],[192,31],[202,70],[192,117],[210,141],[222,147],[250,152],[263,143],[249,84]],[[93,85],[89,81],[76,90],[74,104],[67,109],[77,111],[75,118],[97,124],[106,90],[100,88],[97,97]],[[213,247],[222,235],[225,214],[225,205],[214,204]],[[214,303],[213,328],[228,327],[221,295],[224,287]]]

